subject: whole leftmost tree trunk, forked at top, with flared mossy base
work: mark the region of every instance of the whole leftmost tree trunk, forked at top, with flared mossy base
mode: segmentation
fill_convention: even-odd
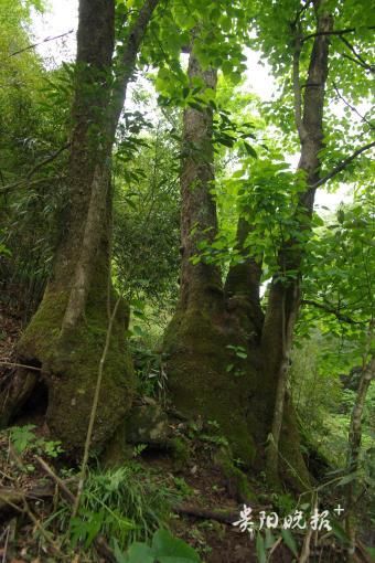
[[[114,67],[115,2],[81,0],[66,216],[53,275],[19,342],[22,363],[2,418],[22,410],[35,384],[47,387],[46,422],[66,449],[85,442],[98,365],[116,296],[110,283],[110,159],[126,88],[158,0],[146,0]],[[115,70],[115,78],[114,78]],[[119,307],[106,355],[93,444],[103,447],[131,402],[127,310]]]

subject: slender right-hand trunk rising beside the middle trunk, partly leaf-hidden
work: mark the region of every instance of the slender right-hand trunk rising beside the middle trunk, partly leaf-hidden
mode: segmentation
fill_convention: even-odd
[[[303,110],[301,106],[299,55],[299,30],[296,31],[293,85],[296,125],[301,144],[301,157],[298,170],[306,173],[307,190],[300,196],[296,222],[300,232],[310,230],[313,211],[314,188],[320,174],[319,152],[323,148],[323,108],[328,77],[329,33],[333,19],[323,10],[324,1],[313,2],[317,18],[317,32],[308,72]],[[325,34],[324,34],[325,33]],[[300,217],[303,217],[302,220]],[[274,276],[269,302],[262,331],[266,387],[265,415],[272,412],[271,443],[267,452],[267,470],[271,480],[278,479],[279,449],[282,437],[283,403],[287,392],[289,355],[296,319],[300,307],[300,269],[302,252],[300,242],[292,240],[281,247],[278,256],[279,273]],[[290,273],[290,274],[289,274]],[[274,403],[274,408],[270,405]],[[302,468],[301,464],[299,464]],[[306,477],[301,476],[303,480]]]

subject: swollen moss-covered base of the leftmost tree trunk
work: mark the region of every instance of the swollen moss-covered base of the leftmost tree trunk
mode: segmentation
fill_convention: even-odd
[[[19,343],[24,361],[38,361],[49,387],[46,421],[69,452],[81,450],[92,412],[98,365],[108,327],[106,309],[93,304],[67,334],[60,327],[67,294],[47,290]],[[125,341],[125,325],[115,321],[104,367],[93,447],[100,449],[130,406],[133,372]]]

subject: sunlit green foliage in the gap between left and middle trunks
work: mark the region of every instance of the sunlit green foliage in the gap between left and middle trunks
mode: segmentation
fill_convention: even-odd
[[[133,126],[142,127],[137,116]],[[149,134],[140,137],[141,145],[130,148],[127,132],[116,150],[114,167],[116,285],[128,299],[147,299],[156,309],[174,304],[178,293],[179,166],[169,129],[160,117]]]

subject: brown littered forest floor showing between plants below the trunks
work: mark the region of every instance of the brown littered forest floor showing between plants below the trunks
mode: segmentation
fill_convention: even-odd
[[[0,359],[4,362],[0,364],[0,390],[3,390],[14,373],[14,367],[10,364],[15,362],[14,347],[21,330],[21,321],[17,315],[0,309]],[[46,474],[45,466],[40,459],[43,458],[53,474],[62,478],[63,485],[73,492],[76,477],[72,477],[72,463],[58,454],[58,448],[52,446],[51,457],[44,446],[38,447],[38,444],[54,444],[47,442],[43,418],[31,419],[29,424],[30,422],[34,424],[32,432],[36,437],[35,447],[25,449],[22,455],[17,453],[9,433],[0,434],[0,561],[2,563],[110,561],[100,554],[100,550],[89,551],[82,548],[67,550],[66,535],[63,540],[63,532],[56,527],[51,528],[51,517],[63,510],[61,495],[64,491],[56,486],[55,478]],[[28,439],[28,435],[21,433],[18,439]],[[162,479],[175,490],[180,502],[172,510],[170,529],[176,537],[192,545],[203,562],[266,562],[261,553],[259,554],[256,539],[251,539],[248,531],[242,532],[238,525],[233,523],[240,519],[239,512],[244,508],[244,502],[251,507],[251,514],[258,518],[261,510],[277,510],[275,498],[272,499],[270,491],[265,489],[264,484],[249,480],[251,498],[244,500],[233,480],[216,463],[215,448],[217,449],[217,444],[203,440],[199,435],[192,436],[189,458],[182,458],[179,463],[168,449],[146,448],[144,452],[137,454],[136,459],[141,467],[140,480],[143,471],[153,476],[151,479],[154,479],[154,487],[158,487]],[[76,476],[77,467],[74,471]],[[288,498],[287,495],[280,497]],[[311,550],[307,561],[342,562],[343,552],[333,535],[325,534],[329,537],[325,543],[321,541],[322,535],[324,534],[312,535],[311,546],[314,543],[317,549]],[[267,548],[269,557],[267,561],[275,563],[298,561],[292,553],[293,550],[288,546],[288,541],[281,541],[281,537],[278,539],[277,535],[272,535],[271,540],[274,546]],[[303,534],[297,537],[297,543],[302,545]],[[264,550],[260,551],[265,553]],[[357,561],[369,560],[360,553]]]

